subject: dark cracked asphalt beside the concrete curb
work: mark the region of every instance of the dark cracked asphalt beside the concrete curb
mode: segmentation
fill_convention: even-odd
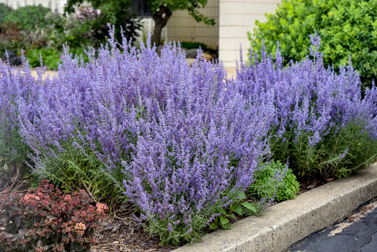
[[[305,238],[289,252],[377,252],[377,203]],[[359,215],[362,215],[360,218]]]

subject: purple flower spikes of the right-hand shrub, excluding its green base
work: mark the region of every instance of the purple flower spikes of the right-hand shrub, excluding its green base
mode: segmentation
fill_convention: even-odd
[[[279,143],[271,146],[271,149],[281,155],[276,157],[281,160],[290,156],[291,160],[293,159],[290,163],[293,165],[299,165],[295,163],[295,159],[310,157],[310,153],[303,153],[305,151],[311,152],[316,148],[326,149],[327,147],[321,144],[345,134],[344,132],[352,128],[352,125],[361,125],[358,131],[361,133],[367,131],[369,141],[375,142],[377,138],[375,86],[367,90],[365,97],[361,99],[360,77],[352,68],[351,58],[347,66],[340,67],[339,74],[332,67],[326,69],[323,66],[322,53],[319,51],[319,35],[311,35],[310,38],[312,42],[310,56],[300,62],[291,61],[284,68],[277,43],[275,59],[272,54],[267,55],[262,47],[260,60],[257,51],[250,52],[249,64],[243,62],[241,55],[240,68],[237,70],[237,85],[240,92],[250,99],[250,103],[256,99],[263,101],[267,99],[267,93],[271,91],[274,93],[276,117],[271,127],[272,139],[287,143],[285,146]],[[356,139],[357,136],[355,135],[354,138]],[[302,147],[305,144],[300,141],[305,142],[306,149]],[[351,143],[346,144],[351,146]],[[283,147],[293,149],[284,152],[281,151]],[[330,156],[331,152],[334,152],[332,147],[326,149],[329,153],[325,155]],[[339,159],[344,159],[348,151],[350,149],[345,146],[336,162],[339,163]],[[374,152],[376,151],[374,149]],[[375,160],[375,154],[371,155]],[[314,160],[314,163],[318,169],[326,166],[325,161],[321,163],[319,160]],[[300,170],[302,167],[293,168]]]

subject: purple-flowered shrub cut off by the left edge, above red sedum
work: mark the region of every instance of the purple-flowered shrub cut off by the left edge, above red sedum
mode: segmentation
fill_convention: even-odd
[[[28,107],[23,111],[25,118],[32,120],[37,100],[41,79],[35,80],[31,76],[29,66],[24,68],[12,68],[9,65],[8,53],[5,64],[0,62],[0,178],[6,180],[17,173],[27,172],[25,160],[28,160],[29,146],[21,141],[18,134],[19,121],[18,109],[15,100],[23,97],[28,101]],[[21,59],[25,63],[25,57],[21,52]],[[41,73],[41,69],[38,70]]]

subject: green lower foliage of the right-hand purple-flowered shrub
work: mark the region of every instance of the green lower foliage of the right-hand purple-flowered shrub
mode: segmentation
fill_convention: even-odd
[[[320,174],[323,179],[347,177],[376,161],[377,141],[371,141],[362,122],[350,122],[338,132],[332,129],[316,146],[309,144],[311,137],[312,132],[302,132],[295,141],[294,129],[282,137],[272,137],[272,157],[285,158],[283,161],[289,157],[296,174]]]

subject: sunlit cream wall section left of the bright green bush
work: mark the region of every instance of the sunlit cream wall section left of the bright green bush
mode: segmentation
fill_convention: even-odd
[[[219,58],[224,66],[235,67],[239,61],[240,43],[246,57],[250,43],[247,32],[253,32],[255,21],[265,22],[264,14],[273,13],[281,0],[219,0]]]

